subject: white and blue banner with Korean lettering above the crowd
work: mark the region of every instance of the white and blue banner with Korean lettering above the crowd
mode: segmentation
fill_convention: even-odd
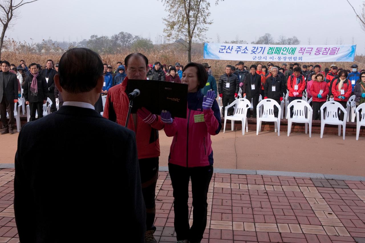
[[[353,62],[356,45],[204,43],[204,59],[272,62]]]

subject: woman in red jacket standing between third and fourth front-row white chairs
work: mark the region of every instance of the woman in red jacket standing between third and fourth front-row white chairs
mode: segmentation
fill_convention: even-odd
[[[330,90],[324,81],[323,73],[317,73],[315,77],[312,76],[311,81],[310,93],[312,95],[313,120],[320,120],[320,116],[318,116],[319,109],[327,101],[327,95]]]

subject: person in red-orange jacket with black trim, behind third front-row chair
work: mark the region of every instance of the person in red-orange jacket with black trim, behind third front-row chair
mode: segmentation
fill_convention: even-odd
[[[302,93],[306,89],[306,80],[304,76],[300,74],[300,67],[295,67],[293,69],[293,74],[291,74],[287,81],[287,86],[289,90],[289,103],[293,100],[301,100]],[[290,117],[293,116],[293,107],[290,109]]]

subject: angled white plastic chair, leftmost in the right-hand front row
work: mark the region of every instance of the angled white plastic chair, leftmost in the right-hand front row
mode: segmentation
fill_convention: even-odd
[[[235,111],[233,116],[228,116],[228,108],[235,105]],[[224,108],[224,128],[223,133],[226,132],[226,122],[227,120],[231,120],[231,130],[234,129],[234,121],[241,121],[242,122],[242,135],[245,135],[245,127],[246,132],[249,131],[249,125],[247,122],[247,110],[251,107],[251,103],[247,99],[237,99],[233,101],[231,104],[227,105]]]

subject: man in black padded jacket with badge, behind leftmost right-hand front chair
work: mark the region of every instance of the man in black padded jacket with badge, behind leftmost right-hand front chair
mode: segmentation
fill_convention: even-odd
[[[222,98],[223,111],[228,103],[231,104],[234,101],[239,91],[238,77],[232,73],[231,65],[226,66],[225,72],[218,81],[218,92],[219,97]],[[233,107],[228,109],[228,115],[233,115]]]

